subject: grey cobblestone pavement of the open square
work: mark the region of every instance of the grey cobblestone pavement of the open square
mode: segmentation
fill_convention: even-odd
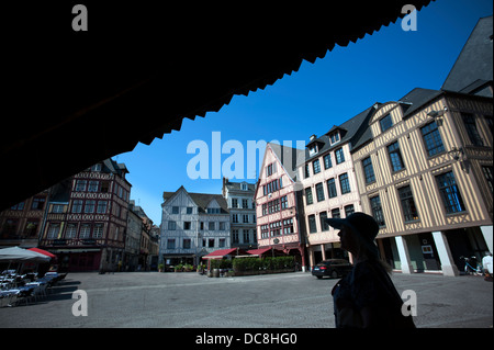
[[[492,328],[493,283],[480,276],[392,276],[417,295],[419,328]],[[69,273],[46,298],[0,308],[0,327],[333,328],[337,280],[295,272],[242,278],[198,273]],[[74,316],[72,292],[88,296]],[[3,305],[5,303],[2,303]]]

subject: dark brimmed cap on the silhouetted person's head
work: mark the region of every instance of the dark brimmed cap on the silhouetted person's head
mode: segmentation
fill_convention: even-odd
[[[374,239],[379,233],[379,225],[372,216],[357,212],[345,218],[326,218],[326,223],[336,229],[341,229],[344,226],[350,227],[350,229],[367,245],[370,252],[378,253],[378,247],[374,244]]]

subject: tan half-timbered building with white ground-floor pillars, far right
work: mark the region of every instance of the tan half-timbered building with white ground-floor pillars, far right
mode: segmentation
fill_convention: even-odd
[[[362,208],[395,269],[457,275],[492,251],[493,100],[414,89],[381,104],[352,150]]]

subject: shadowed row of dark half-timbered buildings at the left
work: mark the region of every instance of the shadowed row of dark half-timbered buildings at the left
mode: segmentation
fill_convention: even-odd
[[[149,222],[131,206],[126,173],[106,159],[3,211],[0,245],[45,249],[61,271],[134,270],[139,260],[149,267],[138,247]]]

